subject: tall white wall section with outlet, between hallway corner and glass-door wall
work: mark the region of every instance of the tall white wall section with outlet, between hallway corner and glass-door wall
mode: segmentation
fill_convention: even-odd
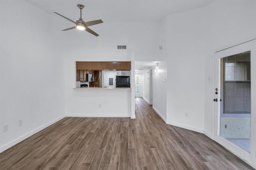
[[[167,70],[167,123],[203,132],[205,10],[168,16],[164,39]],[[188,117],[185,117],[188,112]]]

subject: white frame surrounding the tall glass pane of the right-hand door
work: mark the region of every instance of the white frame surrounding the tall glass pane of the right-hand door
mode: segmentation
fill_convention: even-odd
[[[215,94],[215,88],[220,89],[220,58],[224,58],[230,55],[235,55],[238,53],[243,53],[246,51],[251,51],[251,137],[250,137],[250,153],[246,150],[234,145],[233,143],[227,141],[219,135],[219,124],[220,124],[220,93]],[[242,43],[234,47],[230,47],[223,51],[214,53],[213,55],[214,63],[214,81],[212,89],[212,100],[214,98],[218,99],[218,102],[213,102],[213,140],[224,146],[226,149],[230,150],[238,157],[244,159],[251,166],[256,167],[256,40],[249,41],[247,43]],[[253,105],[254,104],[254,105]]]

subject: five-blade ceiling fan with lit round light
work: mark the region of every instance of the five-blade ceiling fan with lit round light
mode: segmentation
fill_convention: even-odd
[[[63,29],[62,31],[67,31],[67,30],[70,30],[70,29],[77,28],[77,29],[80,29],[80,30],[85,30],[85,31],[95,35],[96,37],[98,37],[99,35],[96,32],[92,31],[92,29],[88,28],[88,26],[95,25],[95,24],[98,24],[98,23],[103,23],[103,21],[102,20],[94,20],[94,21],[84,22],[83,19],[82,19],[82,9],[84,8],[84,5],[78,4],[77,6],[80,9],[80,18],[76,22],[73,21],[73,20],[70,20],[69,18],[66,18],[66,17],[62,16],[61,14],[58,14],[57,12],[54,12],[55,14],[58,14],[59,16],[62,16],[63,18],[65,18],[65,19],[67,19],[67,20],[76,24],[76,26],[70,27],[70,28],[67,28],[67,29]]]

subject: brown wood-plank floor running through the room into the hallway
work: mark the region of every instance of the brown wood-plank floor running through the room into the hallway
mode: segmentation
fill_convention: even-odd
[[[2,152],[0,169],[253,170],[205,135],[167,125],[142,98],[136,119],[62,119]]]

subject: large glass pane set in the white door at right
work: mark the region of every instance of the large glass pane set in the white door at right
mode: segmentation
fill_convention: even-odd
[[[250,152],[250,51],[220,59],[220,136]]]

